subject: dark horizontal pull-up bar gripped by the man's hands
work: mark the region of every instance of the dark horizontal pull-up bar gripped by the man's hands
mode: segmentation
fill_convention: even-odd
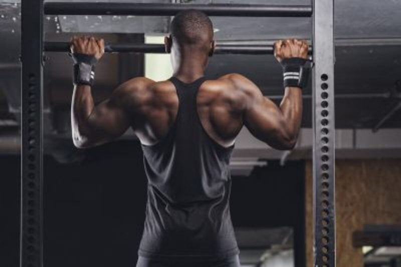
[[[133,53],[156,53],[163,54],[165,52],[164,45],[155,44],[107,44],[105,52],[133,52]],[[46,42],[45,51],[47,52],[69,52],[70,43],[68,42]],[[273,46],[239,46],[225,45],[217,46],[216,54],[248,54],[248,55],[272,55]]]

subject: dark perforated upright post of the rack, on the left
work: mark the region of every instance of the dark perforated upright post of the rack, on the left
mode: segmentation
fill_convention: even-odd
[[[43,266],[43,2],[21,1],[20,266]]]

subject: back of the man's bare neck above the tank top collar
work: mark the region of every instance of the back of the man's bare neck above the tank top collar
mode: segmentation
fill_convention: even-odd
[[[208,58],[204,55],[181,55],[175,65],[173,76],[184,83],[191,83],[205,75]]]

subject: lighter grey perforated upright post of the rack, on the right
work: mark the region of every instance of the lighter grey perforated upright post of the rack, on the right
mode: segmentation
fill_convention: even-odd
[[[330,267],[336,266],[335,46],[333,29],[334,0],[313,0],[314,68],[311,101],[313,127],[313,266]],[[323,84],[325,84],[326,89],[323,89]]]

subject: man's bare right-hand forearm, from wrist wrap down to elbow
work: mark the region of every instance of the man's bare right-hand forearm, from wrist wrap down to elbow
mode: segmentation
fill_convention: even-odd
[[[285,123],[286,139],[291,145],[295,145],[302,120],[302,89],[298,87],[287,87],[280,110]]]

